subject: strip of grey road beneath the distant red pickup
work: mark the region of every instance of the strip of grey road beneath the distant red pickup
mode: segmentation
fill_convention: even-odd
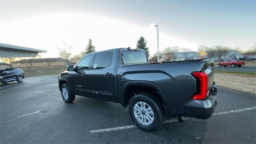
[[[238,72],[256,72],[256,67],[255,66],[242,66],[242,67],[234,67],[232,68],[231,66],[227,67],[215,67],[216,70],[225,70],[225,71],[238,71]]]

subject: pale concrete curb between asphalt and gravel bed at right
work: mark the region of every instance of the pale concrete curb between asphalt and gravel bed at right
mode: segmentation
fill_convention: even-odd
[[[252,94],[256,94],[256,87],[255,86],[246,86],[244,84],[236,84],[232,82],[224,82],[220,80],[214,80],[217,86],[223,86],[225,88],[231,88],[234,90],[240,90],[243,92],[250,92]]]

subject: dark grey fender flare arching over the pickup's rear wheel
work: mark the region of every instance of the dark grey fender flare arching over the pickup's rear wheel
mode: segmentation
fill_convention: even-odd
[[[164,104],[164,106],[167,105],[167,100],[164,96],[164,93],[162,92],[161,88],[155,84],[154,82],[148,82],[148,81],[129,81],[129,82],[126,82],[126,84],[124,84],[124,88],[123,88],[123,91],[122,91],[122,98],[123,100],[125,100],[125,91],[126,91],[126,88],[128,86],[132,86],[132,85],[140,85],[140,86],[150,86],[154,89],[157,90],[157,92],[159,93],[159,96],[160,96],[160,99],[162,100],[162,103]]]

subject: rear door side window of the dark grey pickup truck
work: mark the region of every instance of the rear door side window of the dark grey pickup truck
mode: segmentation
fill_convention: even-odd
[[[96,54],[94,58],[94,62],[92,64],[92,69],[106,68],[110,66],[111,59],[112,59],[112,52]]]

